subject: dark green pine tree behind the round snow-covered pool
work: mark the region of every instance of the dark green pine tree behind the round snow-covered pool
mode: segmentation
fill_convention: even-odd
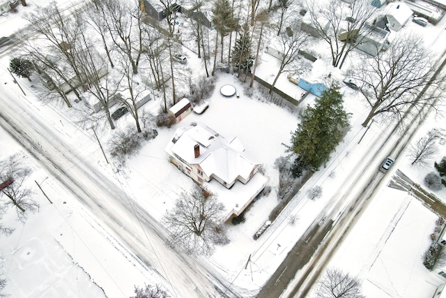
[[[245,23],[232,50],[232,63],[236,68],[247,70],[252,66],[252,40],[248,24]]]

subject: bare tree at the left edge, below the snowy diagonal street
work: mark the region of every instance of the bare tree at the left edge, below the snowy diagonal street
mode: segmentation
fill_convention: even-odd
[[[13,183],[1,190],[0,196],[7,199],[2,204],[15,207],[20,221],[26,221],[26,211],[34,212],[38,209],[38,203],[31,199],[31,188],[24,185],[30,174],[31,169],[23,165],[18,154],[0,162],[0,180],[13,180]]]

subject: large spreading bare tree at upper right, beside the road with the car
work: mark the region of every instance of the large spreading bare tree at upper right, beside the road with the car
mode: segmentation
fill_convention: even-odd
[[[433,78],[433,61],[420,36],[399,35],[385,52],[356,64],[352,77],[360,82],[370,107],[362,126],[378,115],[402,119],[413,109],[431,105],[436,97],[422,89],[440,80]]]

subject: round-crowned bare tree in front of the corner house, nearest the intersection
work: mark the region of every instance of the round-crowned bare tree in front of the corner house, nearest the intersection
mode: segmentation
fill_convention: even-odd
[[[209,195],[194,185],[189,193],[181,193],[175,206],[167,211],[164,221],[171,231],[171,245],[187,253],[208,255],[215,244],[229,240],[220,221],[224,205],[215,195]]]

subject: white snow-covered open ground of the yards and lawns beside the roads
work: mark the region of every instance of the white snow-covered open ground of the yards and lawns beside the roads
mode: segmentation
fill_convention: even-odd
[[[37,0],[27,2],[29,7],[26,9],[32,9],[37,3],[45,4],[45,1]],[[75,5],[70,1],[59,2],[67,7]],[[17,16],[23,10],[20,7]],[[5,28],[1,34],[7,34],[10,29],[8,20],[12,17],[12,13],[0,17],[0,26]],[[436,27],[429,24],[423,28],[410,22],[405,29],[424,33],[426,43],[442,52],[445,41],[438,38],[437,34],[444,29],[444,24],[445,20]],[[425,32],[428,31],[429,35],[426,36]],[[433,40],[436,43],[432,44]],[[192,52],[187,52],[187,56],[188,66],[200,65],[198,60],[195,63]],[[357,57],[357,54],[353,53],[352,57]],[[298,124],[296,114],[263,100],[266,94],[255,92],[252,97],[247,96],[234,75],[218,73],[215,92],[209,99],[210,106],[206,112],[201,115],[190,114],[170,129],[159,129],[159,135],[146,144],[137,156],[129,158],[117,172],[114,163],[105,163],[92,132],[73,124],[63,114],[64,108],[59,112],[60,107],[44,105],[34,98],[30,83],[26,80],[20,80],[20,84],[29,95],[26,98],[22,96],[6,70],[9,59],[10,57],[5,57],[0,61],[0,93],[6,94],[6,89],[8,93],[12,89],[16,96],[8,98],[9,100],[22,100],[24,105],[30,105],[38,113],[45,115],[43,117],[48,119],[50,129],[57,131],[66,142],[72,144],[79,156],[89,158],[98,170],[123,181],[122,186],[130,198],[157,219],[162,218],[179,193],[192,186],[192,181],[171,165],[164,153],[164,147],[176,127],[200,121],[222,135],[238,136],[249,151],[256,152],[256,157],[266,167],[270,184],[274,186],[277,184],[277,172],[273,163],[275,158],[285,154],[282,143],[289,142],[290,132]],[[321,77],[337,71],[322,61],[317,61],[316,66]],[[277,67],[275,58],[262,53],[261,64],[256,73],[270,78]],[[341,73],[334,72],[333,76],[339,77],[339,80],[342,78]],[[240,98],[221,96],[220,87],[224,84],[233,84],[240,92]],[[300,91],[296,91],[298,87],[286,80],[286,75],[279,78],[277,87],[289,91],[291,96],[300,94]],[[214,265],[215,271],[224,274],[235,288],[246,289],[241,291],[245,292],[246,297],[259,290],[275,271],[299,235],[305,232],[314,216],[339,188],[339,184],[346,181],[352,167],[355,167],[360,158],[367,156],[368,148],[382,141],[390,131],[389,127],[374,123],[360,144],[357,144],[364,133],[360,124],[367,109],[351,89],[342,87],[341,91],[344,92],[346,109],[352,113],[352,128],[333,154],[327,169],[321,170],[310,179],[284,214],[257,241],[252,236],[268,220],[270,210],[277,204],[275,191],[255,202],[245,215],[245,223],[229,225],[231,243],[217,247],[217,251],[208,260]],[[144,109],[155,112],[160,101],[157,98],[145,105]],[[311,98],[302,105],[307,102],[310,103]],[[438,128],[442,121],[430,119],[420,129],[415,140],[430,128]],[[116,123],[118,128],[133,124],[130,116],[125,116]],[[109,131],[100,131],[99,136],[106,143]],[[39,211],[30,214],[25,224],[17,222],[13,211],[3,217],[3,223],[15,228],[15,232],[9,237],[0,236],[0,262],[3,265],[3,276],[8,279],[5,289],[7,294],[12,297],[128,297],[132,294],[134,285],[166,285],[167,281],[140,265],[128,253],[129,248],[125,248],[113,234],[107,232],[106,227],[101,227],[95,214],[91,214],[75,198],[70,197],[56,179],[40,169],[31,156],[22,152],[4,131],[0,131],[0,140],[0,159],[17,152],[26,156],[33,168],[29,185],[34,184],[33,180],[38,181],[53,202],[49,204],[38,188],[33,186],[34,199],[40,203]],[[443,149],[443,154],[438,154],[437,159],[446,155],[446,147],[439,147]],[[383,158],[385,154],[383,152]],[[432,166],[423,169],[410,167],[409,158],[399,159],[392,171],[397,168],[419,184],[422,184],[426,173],[433,170]],[[372,167],[371,170],[376,169]],[[389,179],[390,176],[387,175]],[[305,200],[306,189],[315,185],[323,187],[323,197],[316,201]],[[436,192],[436,195],[446,201],[445,190]],[[293,217],[296,218],[294,224],[289,220]],[[359,276],[363,280],[363,292],[367,297],[430,297],[436,285],[442,281],[423,267],[421,255],[429,246],[429,234],[433,231],[435,221],[436,215],[416,198],[402,191],[383,187],[355,229],[337,249],[330,265]],[[252,262],[245,269],[249,255]],[[176,272],[176,268],[168,270],[174,274]],[[182,297],[181,293],[176,293],[176,296]]]

